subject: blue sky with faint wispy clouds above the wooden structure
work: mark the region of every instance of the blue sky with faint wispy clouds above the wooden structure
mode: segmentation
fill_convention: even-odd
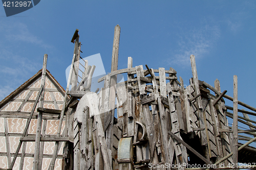
[[[173,67],[185,85],[192,77],[189,56],[196,56],[199,80],[238,99],[255,104],[256,1],[41,1],[6,17],[0,7],[0,100],[42,67],[66,89],[65,70],[71,64],[79,29],[82,57],[100,53],[111,70],[114,27],[121,27],[118,68],[145,64]],[[89,63],[90,64],[90,63]],[[232,106],[232,103],[229,103]],[[256,120],[256,119],[254,119]]]

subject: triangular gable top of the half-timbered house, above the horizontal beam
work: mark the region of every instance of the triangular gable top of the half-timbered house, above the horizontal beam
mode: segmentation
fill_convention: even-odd
[[[50,71],[46,71],[46,87],[45,87],[45,104],[49,109],[61,109],[63,96],[65,90],[60,86],[56,79],[51,75]],[[23,85],[19,86],[11,94],[9,94],[4,100],[0,102],[0,111],[31,111],[22,106],[23,110],[20,110],[28,95],[30,95],[29,101],[25,104],[26,107],[33,107],[33,100],[36,99],[37,93],[40,88],[42,69],[40,69],[33,77],[26,81]],[[33,91],[33,92],[32,92]],[[54,94],[54,95],[53,95]],[[52,99],[55,98],[55,99]],[[54,100],[56,102],[54,102]],[[57,107],[57,105],[58,107]],[[24,105],[24,104],[23,104]],[[54,107],[55,105],[55,107]]]

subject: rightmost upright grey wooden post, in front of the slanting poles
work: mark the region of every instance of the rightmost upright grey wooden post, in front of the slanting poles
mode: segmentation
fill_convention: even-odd
[[[233,169],[237,169],[238,163],[238,77],[234,75],[233,77],[233,90],[234,90],[234,100],[233,100]]]

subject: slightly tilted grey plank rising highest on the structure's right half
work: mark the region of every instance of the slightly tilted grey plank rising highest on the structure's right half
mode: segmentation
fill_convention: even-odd
[[[193,74],[194,88],[195,88],[195,92],[196,92],[196,95],[197,95],[197,94],[200,93],[200,90],[199,90],[199,84],[198,84],[196,60],[195,60],[195,56],[194,55],[190,56],[190,62],[191,62],[191,69],[192,69],[192,74]],[[199,96],[197,98],[197,103],[198,103],[199,109],[203,109],[202,108],[201,96]]]

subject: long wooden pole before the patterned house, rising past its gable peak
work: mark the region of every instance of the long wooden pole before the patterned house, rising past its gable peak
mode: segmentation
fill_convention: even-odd
[[[41,87],[45,87],[47,58],[48,58],[48,55],[45,54],[44,64],[42,65]],[[41,97],[40,97],[40,100],[38,103],[38,107],[44,107],[44,98],[45,98],[45,88],[42,90],[42,94],[41,94]],[[39,112],[38,116],[37,116],[37,128],[36,128],[36,136],[35,136],[35,154],[34,154],[34,161],[33,161],[33,169],[38,169],[38,164],[39,164],[41,128],[42,128],[42,112]]]

